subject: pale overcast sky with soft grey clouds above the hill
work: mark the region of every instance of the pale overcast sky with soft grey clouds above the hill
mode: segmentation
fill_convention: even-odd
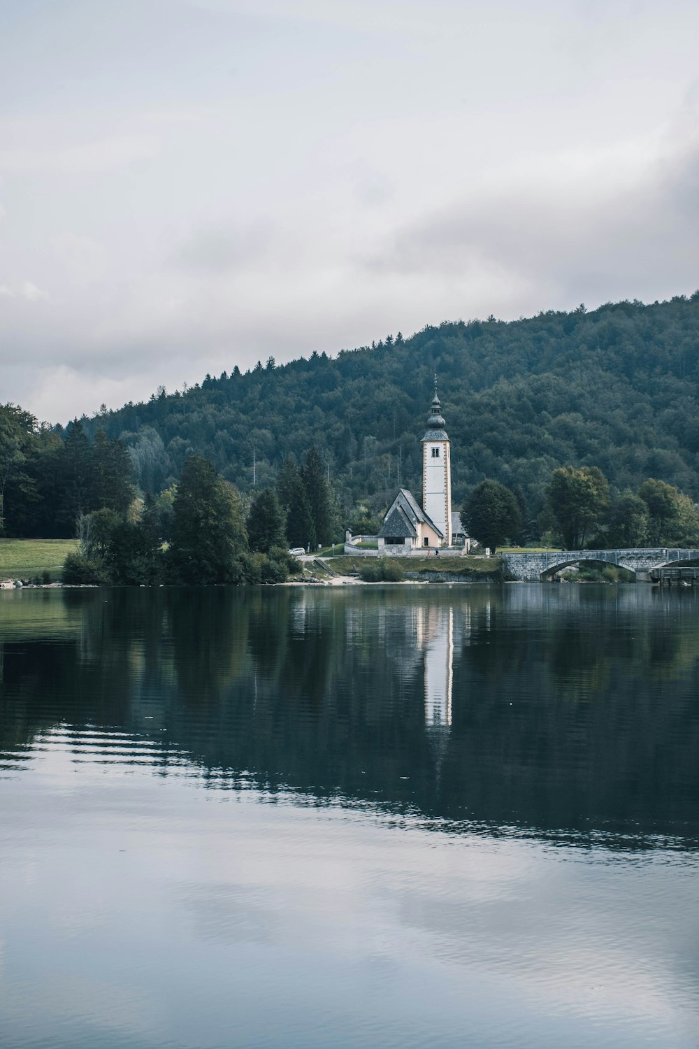
[[[0,400],[699,286],[696,0],[2,0]]]

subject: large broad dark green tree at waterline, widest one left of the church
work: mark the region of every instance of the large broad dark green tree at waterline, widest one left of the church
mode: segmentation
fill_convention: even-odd
[[[184,461],[173,504],[174,521],[168,563],[176,582],[226,583],[237,576],[236,560],[247,549],[238,492],[209,459]]]

